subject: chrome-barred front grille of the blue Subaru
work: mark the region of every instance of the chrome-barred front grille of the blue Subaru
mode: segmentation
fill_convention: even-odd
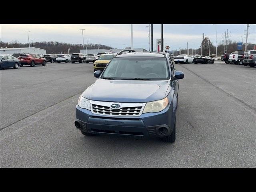
[[[94,113],[104,114],[104,115],[134,116],[134,115],[139,115],[141,109],[142,109],[142,106],[112,109],[112,108],[107,107],[107,106],[92,104],[92,110],[93,110]]]

